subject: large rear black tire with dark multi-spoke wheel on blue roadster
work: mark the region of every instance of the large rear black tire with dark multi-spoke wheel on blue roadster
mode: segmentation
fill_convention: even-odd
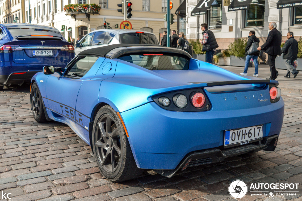
[[[123,124],[109,105],[96,114],[92,143],[98,167],[108,180],[120,182],[143,173],[135,163]]]

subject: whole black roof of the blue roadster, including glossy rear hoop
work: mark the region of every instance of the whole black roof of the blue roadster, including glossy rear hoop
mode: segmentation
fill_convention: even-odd
[[[104,47],[97,47],[97,48],[84,50],[80,52],[78,56],[93,55],[98,57],[107,57],[107,58],[114,59],[120,57],[123,54],[139,53],[139,52],[177,53],[192,58],[191,55],[184,50],[180,50],[172,47],[164,47],[161,45],[153,45],[153,44],[113,44]]]

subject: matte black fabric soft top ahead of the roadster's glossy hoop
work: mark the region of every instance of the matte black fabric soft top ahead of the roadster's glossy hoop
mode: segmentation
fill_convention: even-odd
[[[132,46],[154,46],[154,47],[163,47],[161,45],[153,44],[114,44],[107,45],[103,47],[91,48],[80,52],[78,55],[94,55],[99,57],[105,57],[108,52],[118,47],[132,47]]]

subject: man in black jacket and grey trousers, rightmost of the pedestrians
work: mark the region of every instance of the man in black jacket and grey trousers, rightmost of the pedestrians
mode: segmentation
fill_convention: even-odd
[[[285,66],[287,67],[287,74],[284,77],[290,78],[290,74],[294,75],[294,78],[297,77],[299,71],[294,67],[294,61],[297,59],[298,54],[298,42],[294,39],[294,33],[289,31],[286,35],[287,41],[281,48],[283,53],[282,59],[284,59]]]

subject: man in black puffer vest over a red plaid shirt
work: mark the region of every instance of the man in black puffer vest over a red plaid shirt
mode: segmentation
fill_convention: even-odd
[[[207,29],[206,23],[201,24],[201,31],[203,39],[200,42],[203,44],[202,51],[206,52],[206,62],[213,63],[213,54],[218,47],[216,38],[213,32]]]

